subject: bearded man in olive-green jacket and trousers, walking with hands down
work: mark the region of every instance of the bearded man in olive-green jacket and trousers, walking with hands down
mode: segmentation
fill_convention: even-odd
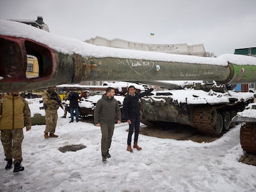
[[[106,93],[97,102],[94,111],[95,125],[101,128],[101,156],[105,162],[110,158],[109,148],[114,133],[114,123],[121,123],[121,110],[118,101],[114,99],[114,88],[107,88]]]

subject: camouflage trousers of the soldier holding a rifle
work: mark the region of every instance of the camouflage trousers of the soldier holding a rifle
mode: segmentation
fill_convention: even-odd
[[[58,120],[57,110],[45,110],[45,133],[55,133]]]

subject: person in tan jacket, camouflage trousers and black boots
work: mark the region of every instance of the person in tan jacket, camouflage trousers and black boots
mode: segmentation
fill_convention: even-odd
[[[4,148],[6,170],[12,168],[14,159],[14,172],[24,170],[22,162],[23,127],[31,129],[31,114],[27,101],[19,93],[7,93],[0,99],[0,130],[1,142]]]

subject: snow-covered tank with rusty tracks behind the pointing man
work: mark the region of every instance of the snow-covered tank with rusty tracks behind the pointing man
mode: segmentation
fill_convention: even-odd
[[[229,86],[228,89],[232,89]],[[236,93],[216,83],[185,83],[180,89],[156,91],[141,99],[142,122],[175,122],[200,132],[219,135],[229,129],[231,119],[254,102],[254,93]]]

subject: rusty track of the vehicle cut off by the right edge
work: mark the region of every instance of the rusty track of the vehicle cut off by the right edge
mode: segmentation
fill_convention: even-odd
[[[256,154],[256,123],[242,124],[240,143],[244,151]]]

